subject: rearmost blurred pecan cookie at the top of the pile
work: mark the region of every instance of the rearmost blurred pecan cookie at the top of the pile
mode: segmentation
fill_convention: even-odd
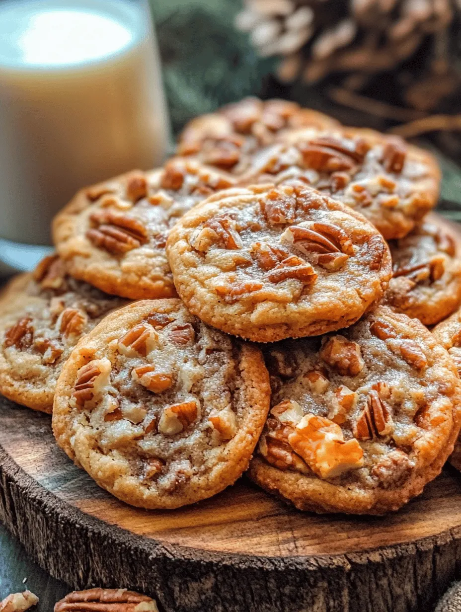
[[[326,130],[339,125],[328,115],[295,102],[250,97],[192,119],[179,136],[178,154],[196,155],[203,163],[241,174],[247,170],[250,154],[287,130]]]

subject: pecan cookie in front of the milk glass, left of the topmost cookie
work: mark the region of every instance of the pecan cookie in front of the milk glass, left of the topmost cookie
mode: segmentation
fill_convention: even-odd
[[[233,179],[193,160],[133,171],[81,190],[54,218],[53,238],[73,277],[131,299],[176,295],[165,242],[170,227]]]

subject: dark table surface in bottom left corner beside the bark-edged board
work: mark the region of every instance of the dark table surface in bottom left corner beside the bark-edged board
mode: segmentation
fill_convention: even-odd
[[[72,591],[33,563],[18,540],[0,523],[0,601],[24,589],[39,597],[39,605],[32,608],[37,612],[53,612],[54,604]]]

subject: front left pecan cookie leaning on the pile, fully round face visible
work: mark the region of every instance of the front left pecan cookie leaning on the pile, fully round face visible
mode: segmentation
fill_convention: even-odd
[[[58,381],[59,446],[119,499],[176,508],[247,468],[269,409],[260,350],[211,329],[178,299],[108,316]]]

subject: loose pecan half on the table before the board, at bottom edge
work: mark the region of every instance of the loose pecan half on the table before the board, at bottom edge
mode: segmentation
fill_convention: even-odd
[[[54,606],[54,612],[159,612],[147,595],[127,589],[88,589],[73,591]]]

